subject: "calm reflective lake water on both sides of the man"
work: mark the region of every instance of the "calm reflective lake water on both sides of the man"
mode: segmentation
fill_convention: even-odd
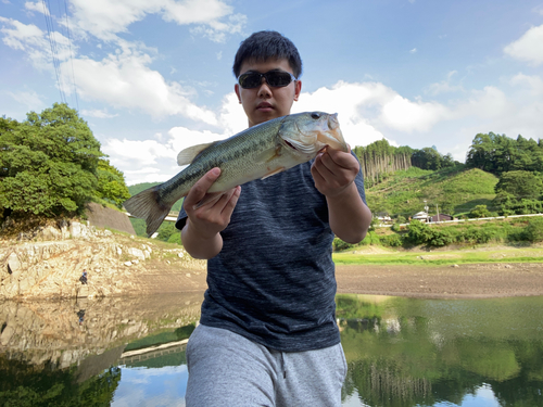
[[[0,303],[0,406],[184,406],[201,301]],[[543,296],[337,303],[343,406],[543,406]]]

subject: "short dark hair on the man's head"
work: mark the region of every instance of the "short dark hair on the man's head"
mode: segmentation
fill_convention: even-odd
[[[302,59],[296,47],[287,37],[269,30],[254,33],[240,43],[233,59],[233,75],[239,77],[244,61],[264,62],[269,59],[285,59],[296,78],[302,75]]]

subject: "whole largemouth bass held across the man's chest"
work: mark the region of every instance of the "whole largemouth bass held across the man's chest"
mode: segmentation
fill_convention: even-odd
[[[304,112],[277,117],[228,139],[182,150],[177,164],[188,165],[185,169],[166,182],[131,196],[124,207],[131,216],[146,220],[146,231],[151,237],[172,206],[210,169],[219,167],[220,176],[207,191],[214,194],[204,200],[306,163],[328,147],[349,152],[337,113]]]

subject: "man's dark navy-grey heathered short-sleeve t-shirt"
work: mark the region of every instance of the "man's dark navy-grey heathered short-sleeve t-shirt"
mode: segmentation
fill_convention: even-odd
[[[310,163],[241,187],[223,250],[207,260],[200,322],[282,352],[340,342],[333,232]],[[362,173],[356,187],[363,200]],[[184,209],[176,222],[182,229]]]

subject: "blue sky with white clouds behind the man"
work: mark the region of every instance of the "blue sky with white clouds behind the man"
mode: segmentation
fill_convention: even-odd
[[[0,114],[64,98],[128,185],[165,181],[247,127],[231,64],[261,29],[302,55],[293,113],[338,112],[351,145],[463,162],[478,132],[543,138],[542,0],[0,0]]]

